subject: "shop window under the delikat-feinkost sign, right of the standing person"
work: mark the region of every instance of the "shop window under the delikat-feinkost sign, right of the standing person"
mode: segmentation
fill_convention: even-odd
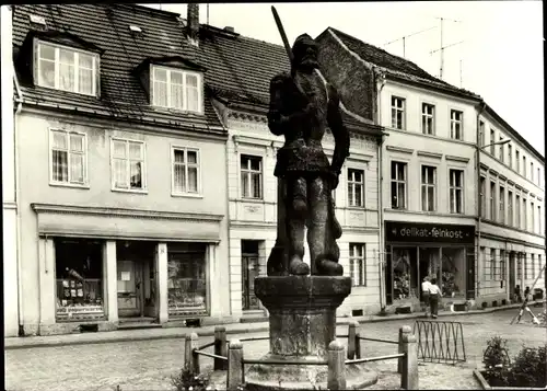
[[[441,290],[445,297],[465,295],[464,249],[442,249],[441,275]]]

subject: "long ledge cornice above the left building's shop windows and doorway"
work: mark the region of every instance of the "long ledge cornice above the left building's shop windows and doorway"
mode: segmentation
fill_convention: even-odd
[[[69,215],[94,215],[104,217],[129,217],[146,219],[168,219],[168,220],[193,220],[193,221],[221,221],[223,215],[173,212],[146,209],[125,209],[93,206],[56,205],[56,204],[31,204],[36,214],[69,214]]]

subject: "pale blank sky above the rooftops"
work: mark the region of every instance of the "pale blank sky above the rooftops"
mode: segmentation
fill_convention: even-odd
[[[147,5],[186,18],[186,4]],[[211,3],[209,12],[203,3],[200,23],[282,45],[271,5],[291,45],[300,34],[316,37],[331,26],[435,77],[442,31],[443,80],[482,96],[545,156],[542,1]]]

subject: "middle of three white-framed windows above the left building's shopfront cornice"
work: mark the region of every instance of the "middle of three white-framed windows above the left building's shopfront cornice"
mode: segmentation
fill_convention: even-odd
[[[115,189],[144,189],[144,142],[113,139],[112,148],[113,187]]]

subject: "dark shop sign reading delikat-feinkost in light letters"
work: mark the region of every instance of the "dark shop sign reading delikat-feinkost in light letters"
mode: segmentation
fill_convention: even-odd
[[[475,226],[385,222],[387,242],[474,243]]]

